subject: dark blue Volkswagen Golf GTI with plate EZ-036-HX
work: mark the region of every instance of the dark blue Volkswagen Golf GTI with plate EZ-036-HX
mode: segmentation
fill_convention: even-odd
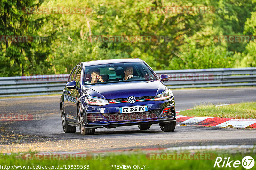
[[[159,124],[174,131],[175,103],[172,91],[146,62],[111,59],[81,62],[73,68],[60,99],[65,133],[92,135],[97,128],[138,125],[140,130]]]

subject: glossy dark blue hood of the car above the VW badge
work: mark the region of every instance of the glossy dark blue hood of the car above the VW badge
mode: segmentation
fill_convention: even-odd
[[[166,89],[167,87],[160,80],[152,80],[89,85],[86,86],[86,93],[90,96],[116,99],[155,96]]]

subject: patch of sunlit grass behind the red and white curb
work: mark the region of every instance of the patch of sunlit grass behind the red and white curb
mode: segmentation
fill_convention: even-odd
[[[201,104],[192,110],[181,111],[179,114],[194,117],[256,118],[256,102],[218,107],[214,104]]]

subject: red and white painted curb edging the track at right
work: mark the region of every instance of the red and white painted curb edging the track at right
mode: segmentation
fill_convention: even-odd
[[[216,106],[225,106],[231,104],[222,104]],[[191,109],[187,109],[191,110]],[[191,117],[177,115],[180,111],[176,112],[176,125],[193,125],[193,126],[218,126],[227,127],[232,125],[236,128],[252,127],[256,128],[256,119],[232,119],[232,118],[220,118],[220,117]]]

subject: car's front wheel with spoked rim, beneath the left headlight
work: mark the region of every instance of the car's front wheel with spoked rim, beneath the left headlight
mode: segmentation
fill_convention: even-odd
[[[79,104],[77,108],[77,118],[78,118],[78,127],[80,130],[80,133],[82,135],[93,135],[95,132],[95,129],[88,129],[84,127],[84,112],[81,104]]]

